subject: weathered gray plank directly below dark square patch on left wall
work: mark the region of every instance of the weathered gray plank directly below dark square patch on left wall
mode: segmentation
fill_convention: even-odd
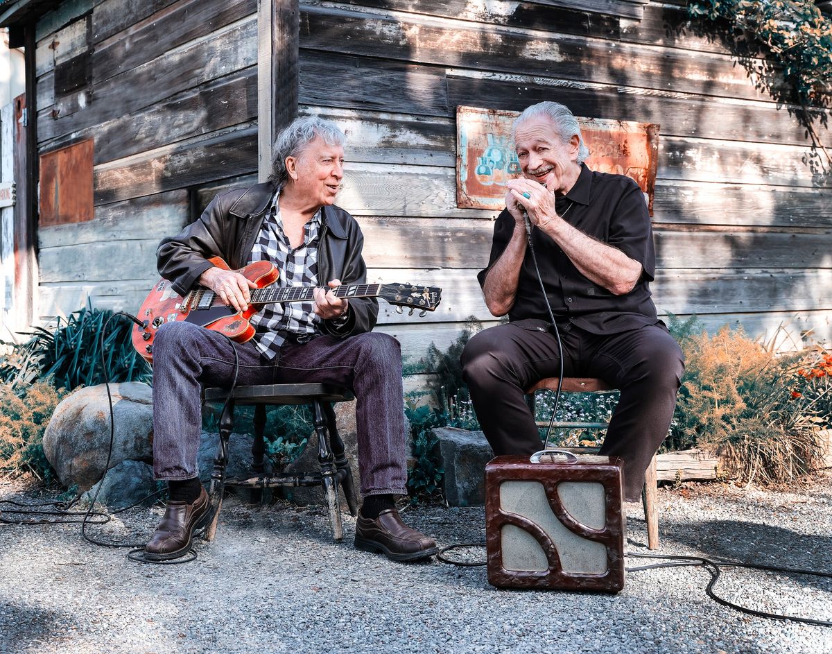
[[[256,22],[246,18],[186,47],[167,52],[140,67],[111,77],[97,86],[92,102],[75,107],[72,101],[56,102],[50,115],[38,114],[38,137],[48,141],[150,107],[176,92],[253,66],[257,61]],[[141,89],[126,93],[125,89]],[[73,111],[68,116],[67,111]],[[50,119],[50,116],[52,119]]]

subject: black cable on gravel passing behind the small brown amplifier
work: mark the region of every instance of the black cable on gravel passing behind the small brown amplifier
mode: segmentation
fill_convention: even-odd
[[[448,545],[448,547],[443,547],[442,549],[440,549],[436,557],[439,561],[443,563],[449,563],[458,567],[478,567],[488,565],[488,561],[458,561],[445,556],[445,552],[451,552],[452,550],[460,549],[462,547],[485,547],[485,543],[458,543],[456,545]],[[819,572],[817,570],[805,570],[802,568],[795,567],[765,566],[760,565],[758,563],[722,561],[719,559],[709,559],[706,557],[672,556],[670,554],[641,554],[636,552],[625,552],[625,556],[637,558],[661,558],[667,561],[671,561],[668,563],[653,563],[651,565],[646,566],[627,567],[626,572],[642,572],[645,570],[656,570],[657,568],[661,567],[704,567],[711,575],[711,580],[708,582],[708,585],[705,588],[706,595],[708,597],[711,597],[711,599],[714,600],[714,602],[717,602],[718,604],[721,604],[724,607],[730,607],[735,611],[739,611],[740,613],[746,613],[750,616],[755,617],[765,617],[769,620],[801,622],[803,624],[816,625],[818,627],[832,627],[832,621],[829,620],[819,620],[811,617],[790,616],[783,615],[780,613],[769,613],[765,611],[757,611],[756,609],[749,607],[743,607],[740,604],[735,604],[734,602],[726,600],[725,597],[720,597],[714,591],[714,587],[716,587],[716,582],[718,582],[720,579],[721,569],[724,567],[739,567],[747,570],[784,572],[785,574],[800,574],[805,575],[807,577],[826,578],[832,578],[832,572]]]

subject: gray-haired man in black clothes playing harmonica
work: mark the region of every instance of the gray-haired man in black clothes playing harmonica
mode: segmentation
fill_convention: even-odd
[[[623,459],[624,498],[636,502],[684,369],[651,300],[656,255],[646,203],[629,177],[587,168],[589,152],[567,107],[528,107],[512,136],[523,177],[508,182],[491,258],[478,275],[488,310],[509,322],[463,350],[473,407],[494,453],[541,448],[524,390],[560,372],[548,300],[564,374],[621,389],[601,453]]]

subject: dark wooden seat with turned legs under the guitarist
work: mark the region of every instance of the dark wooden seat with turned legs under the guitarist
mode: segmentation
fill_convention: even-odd
[[[225,402],[228,389],[206,389],[206,402]],[[210,480],[210,499],[214,505],[214,519],[206,528],[204,538],[212,541],[220,518],[222,496],[225,486],[250,488],[253,493],[262,493],[263,488],[298,486],[320,486],[329,513],[329,527],[336,542],[344,539],[341,526],[341,512],[338,501],[338,486],[344,491],[349,513],[356,515],[358,506],[355,498],[353,475],[344,454],[344,442],[335,426],[334,402],[353,399],[346,389],[328,384],[267,384],[261,386],[238,386],[231,394],[228,404],[220,416],[220,447],[214,460],[214,471]],[[319,470],[296,473],[265,474],[263,456],[265,453],[265,408],[280,404],[308,404],[314,416],[314,431],[318,436]],[[225,464],[228,460],[228,440],[234,426],[234,408],[238,405],[255,406],[255,441],[251,447],[253,462],[252,475],[248,478],[225,479]],[[308,447],[308,445],[307,445]]]

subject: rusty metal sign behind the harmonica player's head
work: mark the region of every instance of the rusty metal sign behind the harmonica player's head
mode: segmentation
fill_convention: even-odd
[[[503,209],[505,184],[521,174],[511,141],[519,111],[457,107],[457,206]],[[641,187],[650,215],[656,186],[659,126],[635,121],[577,117],[593,171],[632,177]]]

